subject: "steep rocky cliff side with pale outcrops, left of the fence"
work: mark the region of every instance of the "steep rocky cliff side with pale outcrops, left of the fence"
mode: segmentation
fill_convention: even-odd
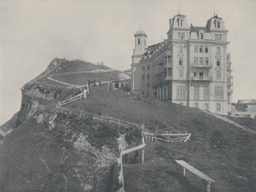
[[[57,110],[59,101],[82,91],[40,84],[63,67],[67,61],[55,59],[40,77],[25,84],[20,111],[1,126],[0,191],[118,189],[115,165],[124,131],[91,116]]]

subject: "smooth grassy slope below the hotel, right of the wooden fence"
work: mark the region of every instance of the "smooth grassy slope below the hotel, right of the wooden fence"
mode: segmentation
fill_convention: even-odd
[[[199,109],[154,99],[135,101],[134,95],[106,90],[103,87],[90,89],[88,99],[74,102],[69,107],[108,113],[152,129],[171,125],[173,129],[192,133],[191,141],[187,143],[149,143],[143,166],[125,166],[125,191],[205,190],[198,177],[189,175],[188,181],[178,177],[174,159],[185,160],[215,179],[217,183],[212,191],[256,190],[256,149],[253,148],[256,136]],[[138,183],[138,179],[141,182]],[[182,183],[185,183],[184,189]]]

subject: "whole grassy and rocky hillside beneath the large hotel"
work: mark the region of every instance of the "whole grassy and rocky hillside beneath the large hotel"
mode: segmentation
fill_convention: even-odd
[[[52,62],[48,73],[72,70],[61,62]],[[82,70],[79,67],[84,63],[78,62],[77,66],[76,70]],[[103,81],[115,74],[101,73],[94,78]],[[59,80],[83,84],[88,77],[64,75]],[[64,106],[70,113],[57,111],[55,105],[82,90],[26,84],[20,112],[4,125],[14,131],[0,143],[0,191],[117,191],[118,139],[125,134],[123,142],[131,147],[140,143],[141,132],[136,127],[119,128],[90,115],[79,115],[79,109],[143,124],[152,130],[172,127],[192,134],[187,143],[147,143],[144,164],[141,151],[126,155],[125,192],[206,190],[206,183],[199,177],[189,172],[187,177],[178,174],[174,160],[185,160],[212,177],[216,181],[213,192],[256,191],[255,135],[200,109],[155,99],[137,100],[136,95],[107,90],[107,84],[90,88],[87,99]],[[237,120],[255,126],[249,119]]]

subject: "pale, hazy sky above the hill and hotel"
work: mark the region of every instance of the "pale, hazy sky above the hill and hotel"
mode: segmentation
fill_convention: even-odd
[[[128,69],[134,33],[142,28],[148,45],[163,41],[178,7],[189,25],[206,26],[214,9],[224,19],[234,76],[232,102],[256,98],[256,1],[1,0],[0,125],[20,109],[20,87],[55,57]]]

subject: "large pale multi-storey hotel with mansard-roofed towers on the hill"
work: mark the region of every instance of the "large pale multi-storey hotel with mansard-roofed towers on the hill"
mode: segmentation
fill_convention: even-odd
[[[231,112],[233,77],[227,33],[218,15],[206,26],[189,26],[185,15],[169,20],[167,39],[147,47],[135,33],[131,91],[212,113]]]

